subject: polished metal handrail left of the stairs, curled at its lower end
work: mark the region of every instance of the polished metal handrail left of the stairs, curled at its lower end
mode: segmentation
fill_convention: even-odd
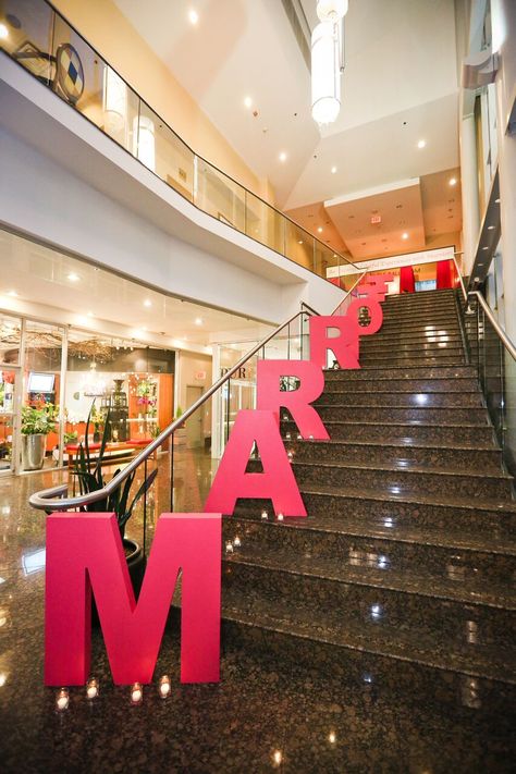
[[[127,466],[121,470],[116,476],[108,481],[108,483],[95,492],[88,492],[87,494],[79,494],[75,497],[63,497],[62,495],[67,492],[69,484],[62,483],[58,487],[51,487],[50,489],[44,489],[39,492],[35,492],[28,499],[29,504],[33,508],[39,508],[40,511],[66,511],[69,508],[76,508],[82,505],[87,505],[88,503],[96,503],[99,500],[103,500],[112,494],[120,484],[125,481],[125,479],[135,470],[142,463],[150,457],[156,450],[161,446],[161,444],[167,441],[174,431],[181,427],[200,406],[202,406],[208,398],[210,398],[213,393],[216,393],[226,381],[235,373],[238,368],[241,368],[247,360],[256,355],[262,347],[268,344],[271,339],[273,339],[280,331],[294,322],[302,315],[310,315],[308,311],[296,311],[285,322],[282,322],[278,328],[275,328],[271,333],[265,336],[258,344],[251,347],[241,359],[232,366],[224,376],[218,379],[195,403],[189,406],[177,419],[175,419],[171,425],[169,425],[160,434],[155,438],[139,454],[137,454]],[[316,312],[317,314],[317,312]]]

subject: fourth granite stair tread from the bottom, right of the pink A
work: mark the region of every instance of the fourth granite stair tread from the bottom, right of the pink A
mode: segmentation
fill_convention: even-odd
[[[435,494],[420,494],[415,492],[404,492],[385,494],[372,489],[354,489],[347,487],[321,487],[303,483],[299,486],[302,492],[308,494],[329,494],[342,497],[358,497],[359,500],[377,500],[388,503],[410,503],[419,505],[437,505],[443,507],[462,508],[466,511],[495,511],[496,513],[516,513],[516,503],[513,500],[489,500],[484,497],[465,499],[454,497],[446,494],[440,497]]]

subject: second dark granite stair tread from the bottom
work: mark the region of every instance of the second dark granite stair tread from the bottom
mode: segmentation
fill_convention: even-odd
[[[481,604],[516,611],[516,593],[507,592],[507,588],[502,583],[488,582],[486,578],[481,582],[475,582],[475,579],[458,582],[425,573],[353,567],[343,564],[339,558],[320,556],[308,558],[295,551],[275,551],[273,554],[266,554],[263,550],[253,548],[239,549],[236,554],[225,555],[224,561],[229,564],[248,564],[280,573],[401,591],[418,597],[433,597],[467,605]]]

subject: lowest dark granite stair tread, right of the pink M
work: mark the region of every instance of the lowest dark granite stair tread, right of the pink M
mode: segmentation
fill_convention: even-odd
[[[478,647],[452,649],[443,642],[440,632],[433,636],[414,631],[404,631],[400,627],[385,625],[371,626],[359,624],[344,616],[329,616],[327,613],[300,612],[292,610],[284,601],[261,601],[257,599],[234,599],[225,593],[222,604],[222,617],[246,625],[258,625],[260,629],[270,629],[303,639],[327,642],[364,653],[383,655],[405,662],[416,662],[451,672],[486,677],[505,683],[516,683],[514,669],[507,667],[508,659],[499,648]]]

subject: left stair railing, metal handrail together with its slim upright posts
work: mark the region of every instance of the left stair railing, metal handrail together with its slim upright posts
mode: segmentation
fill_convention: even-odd
[[[291,315],[291,317],[282,322],[280,325],[278,325],[273,331],[271,331],[268,335],[266,335],[261,341],[259,341],[257,344],[255,344],[248,352],[246,352],[243,357],[235,363],[235,365],[231,366],[228,371],[223,376],[220,377],[189,408],[187,408],[181,417],[175,419],[173,422],[171,422],[160,434],[153,439],[145,449],[142,450],[131,462],[127,463],[127,465],[120,470],[113,478],[102,488],[99,489],[95,492],[88,492],[87,494],[79,494],[75,496],[65,496],[67,495],[69,491],[69,482],[64,482],[62,484],[59,484],[57,487],[51,487],[49,489],[44,489],[41,491],[35,492],[29,496],[29,504],[34,508],[38,508],[40,511],[46,511],[46,512],[53,512],[53,511],[71,511],[75,508],[81,508],[86,505],[89,505],[91,503],[98,502],[100,500],[105,500],[109,497],[110,494],[112,494],[121,484],[127,479],[127,477],[135,471],[137,468],[139,468],[142,465],[145,466],[145,471],[146,471],[146,466],[147,462],[149,458],[155,454],[155,452],[158,451],[158,449],[168,439],[172,439],[172,443],[170,445],[170,459],[171,459],[171,500],[173,499],[173,435],[174,432],[181,428],[184,422],[192,417],[195,411],[197,411],[199,408],[205,406],[205,404],[217,393],[219,392],[224,385],[228,385],[231,377],[235,374],[243,366],[245,366],[246,363],[248,363],[255,355],[258,355],[258,353],[262,353],[265,356],[265,349],[266,346],[275,337],[278,336],[279,333],[282,331],[287,331],[288,335],[288,342],[291,337],[291,325],[296,321],[299,320],[299,331],[300,333],[297,334],[300,336],[303,340],[304,333],[303,333],[303,324],[304,324],[304,318],[309,318],[312,315],[317,315],[315,310],[311,309],[311,307],[308,307],[308,305],[304,304],[303,305],[305,309],[302,309],[300,311],[296,311],[294,315]],[[290,349],[290,346],[288,346]],[[144,507],[145,507],[145,500],[144,500]],[[173,502],[171,502],[171,508],[173,508]],[[145,533],[144,533],[145,537]]]

